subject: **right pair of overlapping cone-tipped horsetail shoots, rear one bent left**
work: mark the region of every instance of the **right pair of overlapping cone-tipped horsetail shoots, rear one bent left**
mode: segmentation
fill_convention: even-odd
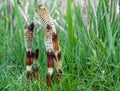
[[[55,24],[49,12],[43,5],[39,5],[38,14],[40,19],[46,24],[45,31],[45,46],[48,59],[48,74],[46,76],[47,86],[51,87],[51,77],[53,76],[54,64],[56,65],[57,74],[56,78],[62,78],[62,62],[60,46],[58,42],[58,35],[56,32]]]

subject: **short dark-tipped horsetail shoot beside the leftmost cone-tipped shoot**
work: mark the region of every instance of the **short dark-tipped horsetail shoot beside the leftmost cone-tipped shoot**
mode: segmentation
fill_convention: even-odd
[[[34,52],[34,59],[33,59],[33,66],[32,66],[32,73],[33,76],[36,80],[39,80],[39,74],[38,74],[38,55],[39,55],[39,50],[36,49]]]

